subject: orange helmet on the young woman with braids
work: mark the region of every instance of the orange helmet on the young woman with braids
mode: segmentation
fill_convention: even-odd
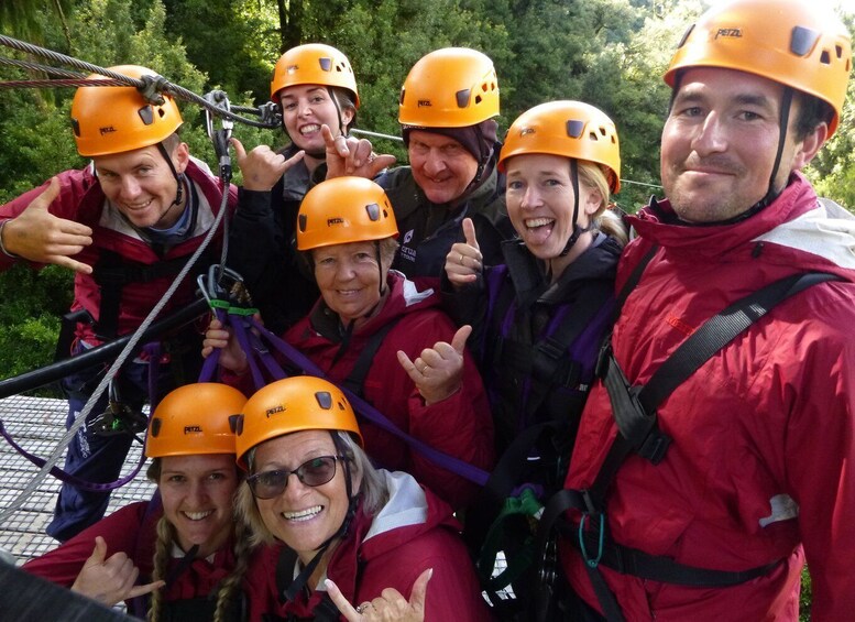
[[[149,423],[145,455],[234,454],[229,417],[242,412],[246,397],[219,382],[185,384],[168,393]]]

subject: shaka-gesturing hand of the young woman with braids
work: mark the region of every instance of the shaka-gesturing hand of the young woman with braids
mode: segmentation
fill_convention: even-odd
[[[140,569],[121,550],[107,557],[107,543],[95,538],[95,549],[77,575],[72,591],[112,607],[121,600],[136,598],[162,588],[164,581],[134,586]]]

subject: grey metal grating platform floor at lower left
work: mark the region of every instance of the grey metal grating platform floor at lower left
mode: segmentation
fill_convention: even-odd
[[[9,435],[25,450],[47,458],[65,435],[65,400],[14,395],[0,400],[0,421]],[[140,460],[141,446],[134,443],[122,469],[130,473]],[[57,465],[62,468],[63,461]],[[0,438],[0,511],[9,508],[39,473],[39,468]],[[0,524],[0,549],[11,553],[17,563],[47,553],[58,543],[44,533],[51,522],[59,481],[48,476],[7,521]],[[136,478],[110,496],[108,514],[131,503],[151,498],[154,484],[145,479],[145,468]]]

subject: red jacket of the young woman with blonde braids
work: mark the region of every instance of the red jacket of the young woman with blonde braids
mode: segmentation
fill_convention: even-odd
[[[107,557],[123,552],[140,569],[139,585],[151,582],[152,560],[157,539],[157,521],[163,510],[150,512],[149,502],[131,503],[102,519],[91,527],[80,532],[57,548],[24,564],[23,569],[48,581],[70,588],[86,560],[95,549],[95,537],[101,536],[107,543]],[[233,543],[213,555],[213,559],[196,559],[182,572],[164,593],[166,602],[207,597],[217,589],[234,566]],[[180,558],[173,558],[169,569]],[[129,608],[132,604],[129,602]]]

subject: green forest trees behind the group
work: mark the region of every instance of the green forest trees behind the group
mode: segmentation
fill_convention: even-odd
[[[232,105],[252,106],[267,100],[284,50],[329,43],[355,70],[358,128],[394,135],[398,91],[413,63],[438,47],[474,47],[495,62],[500,132],[550,99],[581,99],[615,120],[624,179],[617,201],[634,211],[659,192],[659,133],[669,98],[662,72],[704,8],[702,0],[3,0],[0,32],[98,66],[145,65],[196,94],[222,89]],[[853,30],[853,15],[844,19]],[[24,57],[8,47],[0,55]],[[0,81],[39,77],[0,65]],[[849,208],[853,90],[855,80],[837,134],[809,171],[821,195]],[[0,89],[0,201],[85,164],[69,131],[72,96],[70,88]],[[213,166],[199,107],[183,103],[183,112],[191,153]],[[234,135],[248,148],[285,142],[281,131],[244,124]],[[401,143],[375,146],[405,162]],[[50,361],[70,279],[64,270],[22,266],[0,277],[0,375]]]

